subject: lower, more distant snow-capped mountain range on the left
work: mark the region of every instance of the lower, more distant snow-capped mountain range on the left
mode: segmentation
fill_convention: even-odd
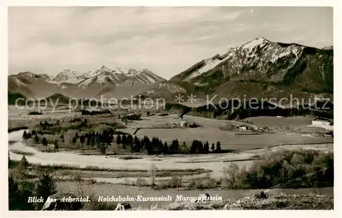
[[[127,68],[100,68],[89,72],[63,70],[50,77],[48,74],[20,72],[8,76],[8,90],[31,98],[44,98],[64,94],[73,98],[129,98],[150,90],[166,81],[150,70]]]

